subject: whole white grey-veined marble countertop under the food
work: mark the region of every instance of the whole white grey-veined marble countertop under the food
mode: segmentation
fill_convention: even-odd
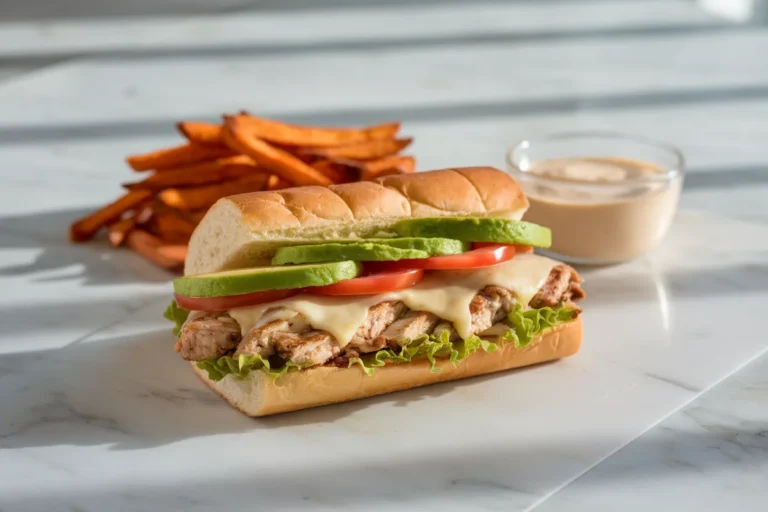
[[[0,510],[764,508],[764,27],[683,0],[245,4],[0,24]],[[422,169],[618,129],[689,174],[662,247],[585,271],[576,357],[252,420],[170,350],[168,274],[66,240],[124,155],[240,108],[403,119]]]

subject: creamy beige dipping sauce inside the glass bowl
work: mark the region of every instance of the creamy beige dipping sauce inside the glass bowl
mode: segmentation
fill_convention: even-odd
[[[524,219],[552,229],[550,251],[584,263],[625,261],[654,248],[677,209],[682,173],[652,163],[573,157],[531,162]]]

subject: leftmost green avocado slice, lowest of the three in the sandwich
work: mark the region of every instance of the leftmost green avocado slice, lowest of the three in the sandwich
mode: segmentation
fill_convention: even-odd
[[[324,286],[360,275],[354,261],[289,267],[256,267],[179,277],[173,291],[185,297],[225,297],[265,290]]]

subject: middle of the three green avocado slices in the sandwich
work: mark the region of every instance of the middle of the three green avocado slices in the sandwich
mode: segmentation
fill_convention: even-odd
[[[330,244],[281,247],[272,258],[273,265],[315,263],[320,261],[395,261],[460,254],[469,244],[449,238],[369,238]]]

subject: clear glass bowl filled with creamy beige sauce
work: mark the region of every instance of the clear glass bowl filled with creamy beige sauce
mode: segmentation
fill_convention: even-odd
[[[542,162],[555,159],[542,170]],[[610,132],[524,140],[506,160],[531,203],[523,219],[552,230],[552,246],[543,252],[579,264],[619,263],[656,247],[674,218],[685,174],[676,148]]]

